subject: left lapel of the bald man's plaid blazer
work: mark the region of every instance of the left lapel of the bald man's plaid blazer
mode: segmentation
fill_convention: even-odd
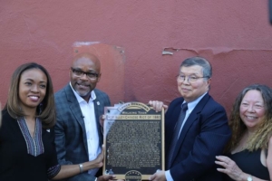
[[[71,112],[73,113],[74,118],[76,119],[76,121],[79,123],[79,125],[81,126],[82,130],[83,130],[83,142],[84,142],[84,147],[86,152],[88,153],[88,146],[87,146],[87,138],[86,138],[86,129],[85,129],[85,123],[84,123],[84,119],[83,119],[83,113],[82,110],[80,108],[80,105],[78,103],[78,101],[76,100],[74,94],[73,94],[73,90],[70,86],[70,84],[68,84],[65,87],[65,93],[66,93],[66,98],[69,101],[69,108],[71,110]]]

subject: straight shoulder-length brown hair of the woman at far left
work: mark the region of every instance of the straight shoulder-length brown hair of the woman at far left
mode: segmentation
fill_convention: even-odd
[[[5,109],[14,119],[18,119],[20,117],[25,116],[24,112],[18,106],[20,105],[19,104],[20,102],[19,83],[21,80],[22,73],[24,71],[31,70],[31,69],[39,69],[43,71],[47,78],[46,94],[40,106],[36,108],[36,117],[42,120],[43,127],[45,129],[52,128],[56,121],[54,99],[53,99],[53,83],[48,71],[46,71],[46,69],[40,64],[37,64],[35,62],[28,62],[28,63],[24,63],[20,65],[15,70],[11,79]]]

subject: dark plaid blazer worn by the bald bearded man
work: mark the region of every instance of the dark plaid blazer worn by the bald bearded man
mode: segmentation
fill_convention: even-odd
[[[94,90],[94,111],[100,143],[102,145],[102,132],[99,117],[104,112],[104,107],[111,106],[108,95],[101,90]],[[70,84],[54,95],[57,122],[55,125],[55,145],[58,161],[61,165],[80,164],[89,160],[86,130],[83,120],[83,113]],[[73,176],[69,181],[89,181],[95,177],[87,172]]]

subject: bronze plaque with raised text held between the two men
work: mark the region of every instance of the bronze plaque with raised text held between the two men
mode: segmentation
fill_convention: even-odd
[[[105,115],[104,175],[136,181],[164,170],[164,110],[127,102],[106,107]]]

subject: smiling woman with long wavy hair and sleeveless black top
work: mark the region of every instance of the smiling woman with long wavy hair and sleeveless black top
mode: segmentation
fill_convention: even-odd
[[[259,84],[242,90],[229,126],[228,157],[216,157],[218,171],[226,174],[226,180],[272,180],[272,90]]]

